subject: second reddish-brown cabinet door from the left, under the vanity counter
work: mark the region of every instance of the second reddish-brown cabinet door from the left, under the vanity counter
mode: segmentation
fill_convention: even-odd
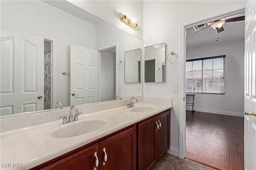
[[[100,170],[136,170],[136,127],[100,142]],[[107,161],[104,162],[105,149]]]

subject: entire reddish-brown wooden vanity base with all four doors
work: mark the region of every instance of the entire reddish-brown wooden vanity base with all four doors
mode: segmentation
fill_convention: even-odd
[[[170,109],[127,128],[32,170],[148,170],[170,148]]]

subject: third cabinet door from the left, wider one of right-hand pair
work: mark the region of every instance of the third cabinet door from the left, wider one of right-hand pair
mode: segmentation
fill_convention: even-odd
[[[138,169],[147,170],[156,162],[156,117],[138,125]]]

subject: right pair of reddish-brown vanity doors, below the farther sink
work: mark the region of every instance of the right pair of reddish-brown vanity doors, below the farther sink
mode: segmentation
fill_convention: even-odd
[[[148,170],[169,149],[170,110],[138,125],[139,170]]]

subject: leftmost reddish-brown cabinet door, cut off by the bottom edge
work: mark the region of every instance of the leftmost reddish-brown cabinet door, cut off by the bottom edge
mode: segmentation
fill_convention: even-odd
[[[54,162],[49,166],[42,168],[43,170],[94,170],[97,153],[98,157],[98,143],[86,149],[80,150],[62,160]],[[98,170],[95,169],[95,170]]]

